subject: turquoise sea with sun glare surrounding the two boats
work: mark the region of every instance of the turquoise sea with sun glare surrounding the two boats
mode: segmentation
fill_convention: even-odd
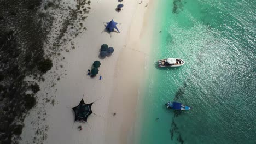
[[[158,2],[136,143],[256,143],[255,11],[249,0]],[[168,57],[186,63],[155,67]]]

